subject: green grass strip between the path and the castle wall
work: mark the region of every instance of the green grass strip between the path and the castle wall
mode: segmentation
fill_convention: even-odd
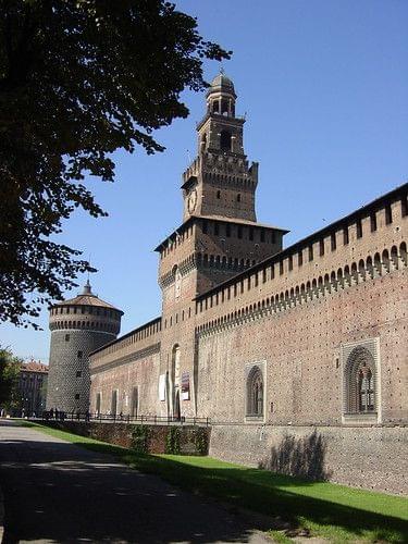
[[[408,499],[403,497],[302,481],[211,457],[136,455],[120,446],[34,423],[24,424],[87,449],[114,455],[184,490],[279,517],[289,522],[294,530],[306,529],[331,542],[408,543]],[[279,524],[276,521],[277,528]],[[289,542],[284,532],[273,530],[271,534],[277,542]]]

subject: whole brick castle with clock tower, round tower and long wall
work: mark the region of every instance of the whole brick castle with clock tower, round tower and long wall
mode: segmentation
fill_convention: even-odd
[[[210,454],[408,493],[408,184],[285,247],[218,75],[156,248],[162,313],[116,338],[92,294],[51,308],[48,408],[210,418]],[[311,454],[310,454],[311,453]],[[318,460],[319,460],[318,459]]]

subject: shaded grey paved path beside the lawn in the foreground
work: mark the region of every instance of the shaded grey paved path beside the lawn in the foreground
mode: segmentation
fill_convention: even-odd
[[[0,422],[4,543],[268,542],[222,506],[13,422]]]

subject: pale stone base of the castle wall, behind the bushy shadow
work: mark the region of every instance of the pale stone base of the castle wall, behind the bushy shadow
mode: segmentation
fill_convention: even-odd
[[[273,472],[407,495],[408,426],[213,425],[210,455]]]

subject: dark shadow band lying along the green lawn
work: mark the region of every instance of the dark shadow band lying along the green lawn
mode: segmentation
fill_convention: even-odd
[[[293,527],[304,527],[306,520],[320,527],[339,528],[349,533],[350,539],[408,542],[408,522],[403,519],[371,512],[366,510],[363,505],[361,508],[355,508],[280,489],[311,484],[301,479],[251,468],[196,467],[166,457],[136,455],[110,444],[77,445],[98,453],[113,454],[133,468],[157,474],[183,490],[271,517],[277,516]]]

